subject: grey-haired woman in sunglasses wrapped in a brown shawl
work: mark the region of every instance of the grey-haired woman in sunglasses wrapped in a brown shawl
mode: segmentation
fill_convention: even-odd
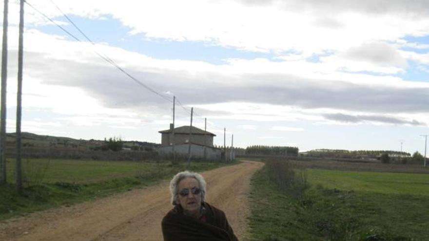
[[[225,213],[204,202],[206,182],[200,174],[177,173],[170,191],[174,208],[162,219],[164,241],[238,241]]]

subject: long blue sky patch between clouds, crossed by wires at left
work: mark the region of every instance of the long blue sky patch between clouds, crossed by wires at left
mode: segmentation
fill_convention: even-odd
[[[130,35],[129,32],[132,29],[125,27],[119,20],[113,19],[111,16],[104,16],[104,19],[90,20],[78,16],[68,17],[72,19],[80,30],[93,42],[105,42],[111,46],[137,52],[156,59],[195,60],[212,64],[225,64],[224,59],[228,58],[267,58],[272,61],[277,61],[274,59],[275,55],[273,53],[249,52],[201,41],[171,41],[164,39],[148,39],[144,34]],[[68,23],[67,19],[64,17],[59,17],[54,20]],[[86,38],[83,37],[72,24],[62,25],[61,27],[81,41],[86,41]],[[45,25],[37,28],[46,34],[67,35],[55,25]],[[74,40],[73,37],[69,38]]]

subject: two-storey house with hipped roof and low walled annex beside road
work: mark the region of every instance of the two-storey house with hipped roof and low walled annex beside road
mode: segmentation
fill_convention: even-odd
[[[176,153],[177,158],[185,159],[188,157],[189,145],[191,145],[192,159],[221,160],[222,158],[222,150],[213,146],[213,137],[216,135],[209,131],[191,126],[174,128],[173,124],[170,124],[169,130],[158,132],[161,133],[161,147],[158,148],[160,156],[172,157]]]

